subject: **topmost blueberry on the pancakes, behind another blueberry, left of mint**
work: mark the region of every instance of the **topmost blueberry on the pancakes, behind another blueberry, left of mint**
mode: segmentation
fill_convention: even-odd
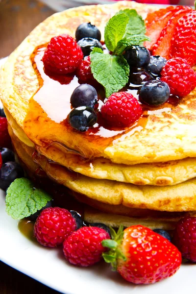
[[[77,42],[83,38],[93,38],[100,41],[101,32],[97,26],[91,25],[91,23],[84,23],[79,25],[75,31],[75,39]]]

